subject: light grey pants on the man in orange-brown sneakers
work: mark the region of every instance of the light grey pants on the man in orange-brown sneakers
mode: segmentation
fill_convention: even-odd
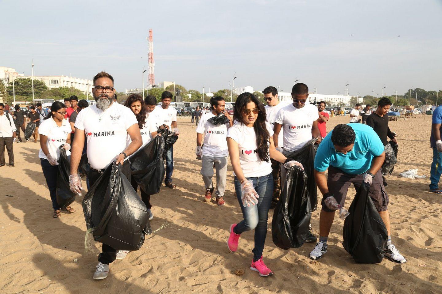
[[[227,175],[227,156],[211,157],[203,155],[201,164],[201,175],[204,181],[204,186],[206,186],[206,190],[213,189],[213,164],[215,164],[215,170],[217,173],[216,197],[223,197],[225,191],[225,178]]]

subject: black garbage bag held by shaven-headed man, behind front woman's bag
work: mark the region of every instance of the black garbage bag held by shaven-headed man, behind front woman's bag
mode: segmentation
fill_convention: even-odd
[[[316,189],[315,179],[315,156],[316,156],[316,139],[307,142],[301,149],[289,154],[287,158],[293,158],[300,162],[304,167],[307,175],[307,191],[309,191],[310,205],[312,211],[315,211],[318,205],[318,190]]]

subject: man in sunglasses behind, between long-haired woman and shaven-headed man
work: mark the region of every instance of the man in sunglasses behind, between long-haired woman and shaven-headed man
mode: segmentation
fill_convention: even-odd
[[[266,117],[267,122],[270,123],[272,128],[274,127],[276,114],[278,111],[286,106],[287,104],[278,100],[278,90],[275,87],[267,87],[263,90],[264,100],[267,102],[266,108]],[[282,133],[281,131],[278,136],[279,147],[282,147]],[[276,204],[279,200],[279,195],[281,194],[281,166],[279,162],[271,159],[272,162],[272,175],[273,175],[273,196],[272,196],[272,204],[270,209],[275,208]]]

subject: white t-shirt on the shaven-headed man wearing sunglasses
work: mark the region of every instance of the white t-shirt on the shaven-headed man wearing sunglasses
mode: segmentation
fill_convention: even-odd
[[[275,123],[281,124],[284,130],[284,150],[296,151],[311,140],[313,122],[318,118],[318,108],[310,103],[305,103],[303,108],[293,104],[281,108]]]

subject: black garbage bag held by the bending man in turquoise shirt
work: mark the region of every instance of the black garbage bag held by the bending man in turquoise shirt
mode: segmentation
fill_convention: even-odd
[[[361,185],[344,221],[343,246],[357,263],[376,264],[382,261],[387,229],[374,207],[369,188]]]

